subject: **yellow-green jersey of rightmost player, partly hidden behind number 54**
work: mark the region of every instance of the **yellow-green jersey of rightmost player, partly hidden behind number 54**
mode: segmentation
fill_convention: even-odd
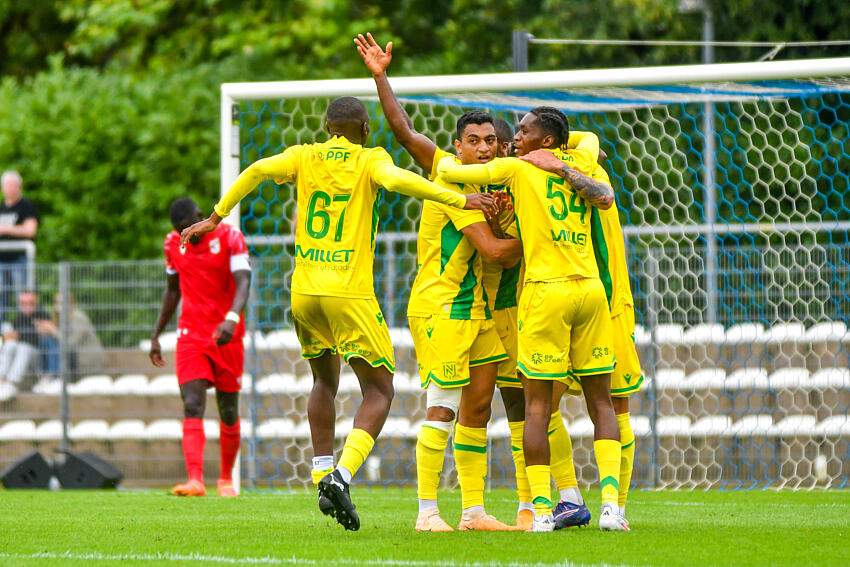
[[[592,177],[606,185],[611,185],[608,172],[599,164],[596,164]],[[590,225],[593,251],[599,266],[599,279],[605,286],[611,317],[616,317],[625,310],[626,306],[635,304],[629,282],[629,267],[626,263],[626,243],[616,203],[604,211],[594,207]]]

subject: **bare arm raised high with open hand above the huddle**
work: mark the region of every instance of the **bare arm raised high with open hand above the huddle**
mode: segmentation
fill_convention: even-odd
[[[410,116],[398,102],[390,86],[390,81],[387,79],[386,69],[393,58],[393,42],[389,42],[386,50],[383,50],[372,37],[372,34],[367,33],[366,37],[363,37],[363,34],[358,34],[354,38],[354,43],[357,45],[360,57],[363,58],[363,63],[366,64],[366,67],[372,72],[372,78],[375,79],[381,108],[384,110],[387,122],[390,123],[393,136],[410,153],[416,163],[427,173],[431,173],[437,145],[413,128]]]

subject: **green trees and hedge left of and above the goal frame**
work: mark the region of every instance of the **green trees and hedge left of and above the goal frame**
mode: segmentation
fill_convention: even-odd
[[[719,40],[844,39],[850,3],[709,0]],[[0,0],[0,169],[42,211],[39,258],[149,258],[178,195],[218,193],[226,81],[363,77],[352,45],[393,41],[393,75],[511,69],[511,34],[698,39],[678,0]],[[765,49],[718,48],[718,61]],[[798,48],[779,57],[841,55]],[[693,63],[699,48],[542,46],[531,69]]]

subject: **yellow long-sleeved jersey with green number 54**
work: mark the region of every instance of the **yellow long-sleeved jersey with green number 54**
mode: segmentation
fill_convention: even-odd
[[[596,163],[596,156],[581,147],[558,155],[585,175],[592,173]],[[590,241],[593,207],[561,176],[517,158],[497,158],[487,164],[468,166],[443,160],[439,170],[447,181],[510,187],[522,240],[525,282],[599,278]]]

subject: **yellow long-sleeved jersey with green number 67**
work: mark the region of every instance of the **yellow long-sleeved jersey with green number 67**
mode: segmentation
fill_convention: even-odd
[[[243,171],[215,206],[224,218],[260,182],[295,181],[297,226],[292,291],[368,299],[372,275],[378,197],[381,187],[453,207],[463,195],[400,169],[383,148],[364,148],[334,136],[327,142],[292,146]]]

